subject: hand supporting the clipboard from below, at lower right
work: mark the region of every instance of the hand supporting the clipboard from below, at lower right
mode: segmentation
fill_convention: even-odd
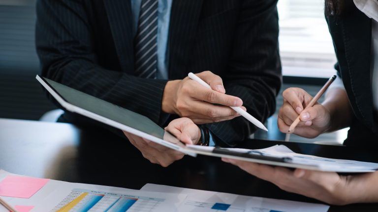
[[[336,172],[305,169],[291,171],[284,167],[222,158],[244,171],[281,189],[318,199],[332,205],[378,201],[378,172],[341,176]]]

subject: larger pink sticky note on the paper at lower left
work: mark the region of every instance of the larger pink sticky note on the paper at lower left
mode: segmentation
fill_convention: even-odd
[[[8,175],[0,182],[0,196],[30,198],[49,179]]]

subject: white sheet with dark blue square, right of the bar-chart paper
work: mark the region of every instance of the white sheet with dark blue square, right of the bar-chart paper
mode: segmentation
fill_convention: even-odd
[[[140,190],[186,194],[180,212],[327,212],[329,206],[288,200],[243,196],[167,185],[146,184]],[[221,209],[222,208],[222,209]]]

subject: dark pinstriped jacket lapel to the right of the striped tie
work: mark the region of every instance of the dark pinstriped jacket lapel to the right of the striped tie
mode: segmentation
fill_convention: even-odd
[[[203,0],[174,0],[169,24],[169,79],[183,79],[188,70],[172,70],[188,67],[191,41],[194,39]]]

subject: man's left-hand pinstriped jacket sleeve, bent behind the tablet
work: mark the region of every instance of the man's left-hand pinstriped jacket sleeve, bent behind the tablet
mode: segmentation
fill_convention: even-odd
[[[38,0],[36,48],[42,76],[158,122],[166,80],[141,79],[99,66],[81,0]]]

